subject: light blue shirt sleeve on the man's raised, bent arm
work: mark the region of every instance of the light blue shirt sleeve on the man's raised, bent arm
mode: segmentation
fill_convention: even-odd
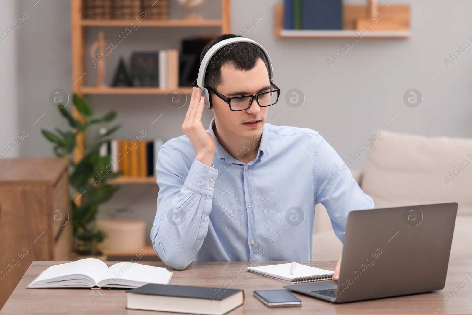
[[[193,261],[208,232],[218,170],[194,159],[190,169],[172,148],[162,146],[156,163],[157,212],[151,240],[160,259],[183,270]]]

